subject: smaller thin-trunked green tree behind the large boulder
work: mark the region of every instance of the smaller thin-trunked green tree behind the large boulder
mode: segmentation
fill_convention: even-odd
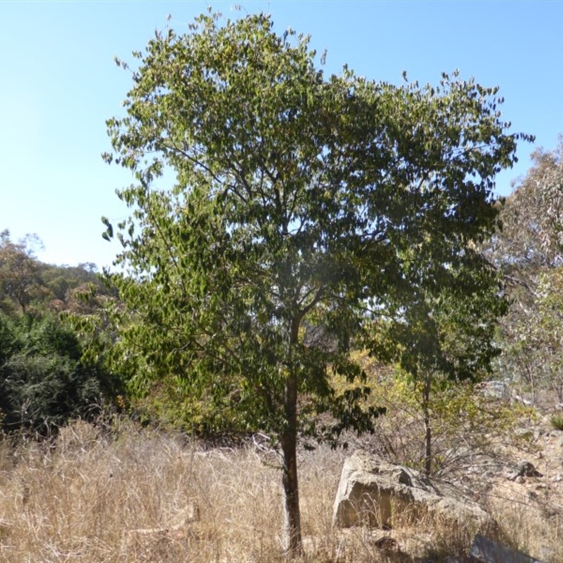
[[[397,362],[415,391],[424,422],[424,471],[431,475],[433,411],[440,414],[444,398],[448,407],[448,391],[455,384],[473,384],[491,373],[492,361],[500,354],[493,337],[507,300],[501,297],[498,273],[479,253],[472,255],[471,274],[469,262],[450,272],[449,287],[427,276],[424,256],[410,251],[405,259],[414,263],[419,281],[412,298],[400,303],[400,315],[381,322],[379,358]]]

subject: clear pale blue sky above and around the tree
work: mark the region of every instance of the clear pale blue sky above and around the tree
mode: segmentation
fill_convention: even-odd
[[[37,233],[46,262],[110,265],[119,243],[101,238],[106,215],[127,208],[115,188],[131,177],[103,163],[110,149],[106,119],[120,114],[130,75],[113,63],[132,61],[167,15],[187,29],[208,2],[0,2],[0,231]],[[521,144],[519,163],[497,179],[500,194],[526,173],[535,146],[555,148],[563,133],[563,2],[561,1],[241,1],[210,5],[225,17],[271,13],[279,33],[292,27],[327,49],[325,71],[348,63],[358,75],[437,84],[460,70],[500,86],[512,132],[536,135]]]

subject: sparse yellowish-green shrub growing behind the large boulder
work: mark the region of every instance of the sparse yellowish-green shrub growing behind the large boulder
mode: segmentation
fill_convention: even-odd
[[[369,400],[386,407],[377,432],[367,446],[386,460],[426,471],[426,440],[430,438],[431,471],[448,477],[470,467],[491,464],[502,457],[502,447],[512,443],[529,449],[529,436],[515,430],[533,410],[483,393],[471,379],[456,381],[436,373],[431,378],[425,405],[426,379],[413,380],[399,366],[382,365],[367,350],[353,352],[367,372],[373,392]],[[426,434],[430,426],[431,435]]]

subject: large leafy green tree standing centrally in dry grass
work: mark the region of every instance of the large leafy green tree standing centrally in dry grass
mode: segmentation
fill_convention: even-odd
[[[104,157],[136,178],[118,192],[134,211],[115,229],[125,272],[108,275],[127,312],[110,353],[277,437],[295,555],[298,436],[373,429],[350,345],[371,346],[386,298],[412,294],[407,248],[428,250],[439,286],[470,262],[518,135],[496,88],[457,74],[396,87],[347,67],[325,79],[307,37],[279,37],[263,14],[219,18],[134,53],[127,113],[108,120]],[[165,170],[175,184],[157,189]],[[310,325],[334,346],[308,346]],[[335,373],[360,386],[336,393]]]

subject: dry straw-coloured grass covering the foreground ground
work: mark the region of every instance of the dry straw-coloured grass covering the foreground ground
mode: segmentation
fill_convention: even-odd
[[[304,561],[438,562],[467,553],[470,531],[436,522],[335,531],[343,458],[326,448],[301,453]],[[5,441],[0,562],[282,562],[276,462],[251,447],[205,450],[133,428],[112,438],[84,422],[63,429],[54,448]],[[493,509],[511,545],[536,556],[547,546],[551,560],[563,560],[560,520],[540,509]],[[382,548],[381,536],[396,538],[400,551]]]

